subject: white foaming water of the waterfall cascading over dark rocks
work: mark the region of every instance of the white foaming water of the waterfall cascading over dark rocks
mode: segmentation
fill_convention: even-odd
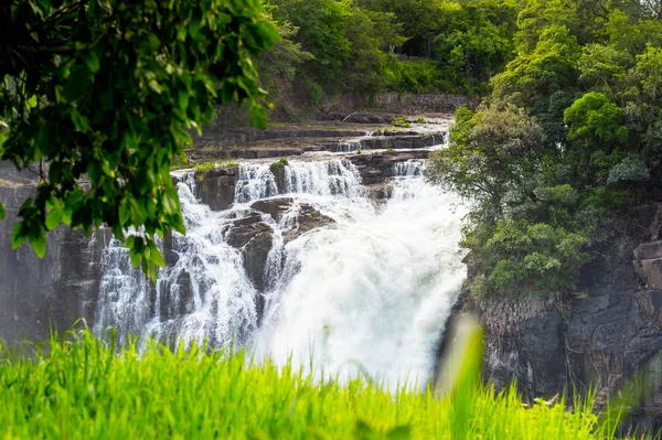
[[[386,203],[363,196],[359,173],[343,160],[290,162],[277,183],[266,164],[242,167],[235,205],[212,212],[195,201],[194,181],[179,184],[188,234],[173,237],[177,264],[150,288],[113,244],[104,256],[96,331],[168,340],[233,341],[258,358],[313,365],[342,379],[365,374],[389,386],[424,384],[455,294],[466,276],[458,249],[462,213],[456,197],[426,184],[420,161],[396,167]],[[229,224],[256,200],[295,197],[274,229],[267,260],[265,316]],[[302,204],[335,221],[285,244]],[[182,273],[191,292],[182,298]],[[179,282],[179,283],[178,283]]]

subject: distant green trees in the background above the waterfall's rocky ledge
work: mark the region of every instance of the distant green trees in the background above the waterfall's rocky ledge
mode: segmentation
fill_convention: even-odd
[[[289,72],[317,104],[346,92],[484,93],[514,56],[514,0],[265,2],[281,29],[297,30],[282,43],[301,51]],[[260,63],[267,76],[271,60]]]

